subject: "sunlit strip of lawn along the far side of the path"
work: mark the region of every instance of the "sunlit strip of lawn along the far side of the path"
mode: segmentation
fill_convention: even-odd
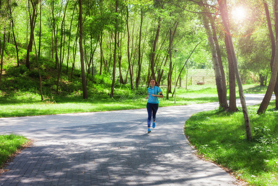
[[[249,90],[259,86],[244,85],[244,87]],[[265,91],[267,87],[259,88]],[[251,93],[255,92],[251,90]],[[127,89],[116,93],[118,95],[116,94],[115,98],[110,98],[108,95],[93,95],[88,100],[84,100],[82,99],[82,92],[79,92],[79,95],[44,97],[45,101],[43,102],[39,94],[30,92],[19,91],[12,96],[0,94],[0,118],[142,109],[146,107],[145,92],[138,94],[136,91],[131,92]],[[164,98],[160,99],[159,106],[174,106],[174,97],[169,95],[169,100],[167,100],[165,90],[163,90],[163,94]],[[176,105],[217,102],[216,86],[191,85],[187,89],[177,88],[176,100]]]

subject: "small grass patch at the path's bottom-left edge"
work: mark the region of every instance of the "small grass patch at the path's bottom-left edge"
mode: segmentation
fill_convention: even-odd
[[[9,134],[0,135],[0,168],[8,160],[11,154],[28,142],[23,136]]]

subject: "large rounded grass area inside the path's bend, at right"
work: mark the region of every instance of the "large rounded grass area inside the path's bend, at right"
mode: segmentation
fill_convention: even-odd
[[[246,140],[243,114],[213,110],[193,115],[185,135],[205,158],[231,169],[251,186],[278,185],[278,111],[257,115],[248,107],[253,140]],[[269,108],[274,108],[271,102]]]

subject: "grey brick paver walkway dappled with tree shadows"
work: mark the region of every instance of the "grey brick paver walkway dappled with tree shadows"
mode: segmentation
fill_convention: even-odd
[[[260,103],[258,96],[246,100]],[[146,109],[2,118],[1,133],[35,141],[8,165],[0,186],[235,185],[223,169],[198,159],[184,135],[186,119],[216,107],[217,103],[159,108],[150,134]]]

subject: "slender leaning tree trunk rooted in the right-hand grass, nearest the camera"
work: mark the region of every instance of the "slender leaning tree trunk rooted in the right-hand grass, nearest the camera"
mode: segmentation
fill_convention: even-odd
[[[246,102],[245,102],[245,98],[244,98],[244,94],[243,94],[243,87],[242,87],[242,83],[241,83],[241,79],[240,79],[240,75],[239,75],[239,71],[238,71],[235,51],[234,51],[234,47],[233,47],[233,43],[232,43],[232,35],[231,35],[230,28],[228,25],[229,15],[228,15],[228,11],[227,11],[227,2],[226,2],[226,0],[218,0],[218,3],[219,3],[219,9],[221,12],[221,18],[223,21],[225,32],[227,33],[227,39],[228,39],[230,47],[231,47],[232,61],[234,62],[233,63],[234,64],[234,72],[235,72],[235,77],[236,77],[237,84],[238,84],[240,103],[242,106],[242,112],[243,112],[243,116],[244,116],[246,137],[248,140],[251,140],[252,134],[251,134],[250,120],[249,120],[249,115],[248,115]]]

